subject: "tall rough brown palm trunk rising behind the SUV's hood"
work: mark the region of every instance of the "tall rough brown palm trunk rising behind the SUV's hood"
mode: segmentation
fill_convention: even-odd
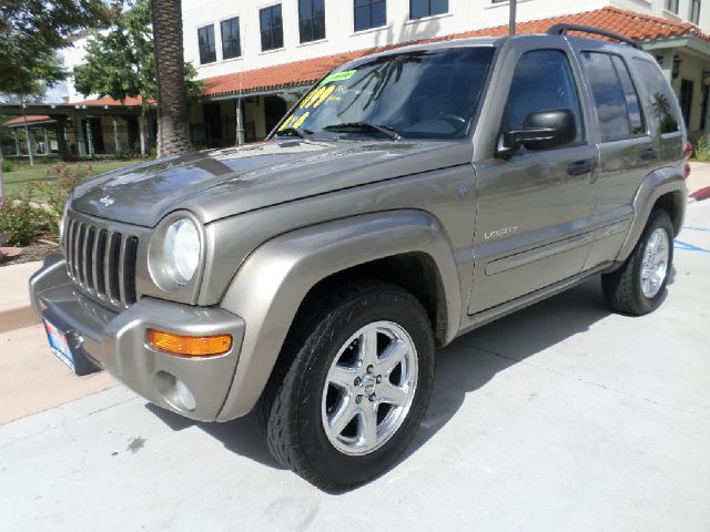
[[[158,81],[158,154],[190,149],[180,0],[151,0]]]

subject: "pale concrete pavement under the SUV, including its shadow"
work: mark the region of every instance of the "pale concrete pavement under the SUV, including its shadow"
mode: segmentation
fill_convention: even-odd
[[[707,531],[710,202],[686,225],[656,314],[609,314],[592,279],[444,349],[414,446],[368,485],[322,493],[252,417],[116,387],[0,427],[0,530]]]

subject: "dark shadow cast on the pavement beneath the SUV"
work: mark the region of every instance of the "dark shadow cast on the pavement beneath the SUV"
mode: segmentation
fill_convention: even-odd
[[[457,415],[467,393],[484,387],[496,374],[516,362],[587,331],[609,314],[599,276],[595,276],[562,294],[464,335],[440,349],[426,418],[398,463],[406,461]],[[151,403],[145,408],[173,430],[199,427],[232,452],[284,469],[268,452],[253,413],[226,423],[203,423]]]

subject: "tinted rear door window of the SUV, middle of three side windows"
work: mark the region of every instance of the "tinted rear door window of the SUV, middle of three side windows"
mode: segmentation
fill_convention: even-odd
[[[641,105],[626,63],[617,55],[599,52],[582,52],[581,58],[597,109],[601,142],[642,134]]]

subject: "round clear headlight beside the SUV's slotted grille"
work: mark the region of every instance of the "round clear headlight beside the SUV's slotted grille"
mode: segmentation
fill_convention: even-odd
[[[200,264],[200,233],[189,218],[171,224],[163,238],[163,260],[170,278],[186,285]]]

